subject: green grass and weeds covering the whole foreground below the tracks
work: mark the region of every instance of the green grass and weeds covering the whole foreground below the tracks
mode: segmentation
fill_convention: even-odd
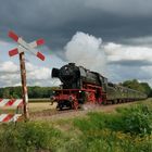
[[[53,122],[0,126],[1,152],[152,152],[152,100]]]

